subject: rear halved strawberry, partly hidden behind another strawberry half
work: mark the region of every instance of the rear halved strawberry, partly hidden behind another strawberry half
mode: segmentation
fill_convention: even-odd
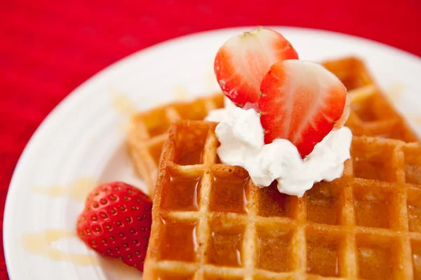
[[[214,70],[225,95],[243,107],[258,102],[263,76],[283,59],[298,59],[293,46],[278,32],[259,27],[229,38],[218,50]]]

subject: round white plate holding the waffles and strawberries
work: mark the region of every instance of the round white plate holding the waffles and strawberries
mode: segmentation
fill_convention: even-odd
[[[346,55],[366,59],[380,85],[392,90],[396,105],[421,132],[419,57],[353,36],[274,28],[293,43],[301,59]],[[216,51],[227,38],[249,29],[253,27],[194,34],[137,52],[83,83],[53,110],[22,153],[7,197],[4,249],[11,279],[140,276],[115,262],[89,265],[98,260],[95,255],[86,260],[70,254],[92,254],[78,239],[65,237],[74,229],[83,205],[78,198],[83,194],[75,188],[110,180],[145,188],[134,176],[123,145],[124,125],[133,111],[130,104],[144,110],[218,90],[213,77]],[[67,260],[58,261],[63,258]]]

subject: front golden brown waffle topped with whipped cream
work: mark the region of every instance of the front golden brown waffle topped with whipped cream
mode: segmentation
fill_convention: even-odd
[[[354,137],[304,197],[218,164],[214,123],[169,130],[144,279],[421,279],[421,144]]]

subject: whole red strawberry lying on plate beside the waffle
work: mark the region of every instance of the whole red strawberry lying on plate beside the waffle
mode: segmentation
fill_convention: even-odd
[[[126,265],[143,271],[151,209],[151,200],[141,190],[126,183],[106,183],[86,198],[77,235],[98,253],[121,258]]]

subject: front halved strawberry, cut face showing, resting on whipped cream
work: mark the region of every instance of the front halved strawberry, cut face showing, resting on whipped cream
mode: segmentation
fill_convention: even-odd
[[[263,78],[260,90],[260,123],[265,129],[265,143],[288,139],[302,157],[313,151],[338,120],[343,125],[347,119],[347,89],[319,64],[300,60],[277,62]]]

